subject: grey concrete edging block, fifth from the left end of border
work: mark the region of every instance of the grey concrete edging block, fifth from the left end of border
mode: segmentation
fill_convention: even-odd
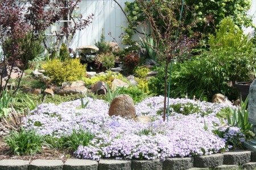
[[[163,164],[160,160],[133,160],[131,161],[131,169],[133,170],[158,170],[162,169]]]

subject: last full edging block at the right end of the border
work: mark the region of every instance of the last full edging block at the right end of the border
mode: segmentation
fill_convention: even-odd
[[[226,165],[240,165],[249,163],[251,160],[251,151],[245,150],[236,150],[224,152],[224,161],[223,164]]]

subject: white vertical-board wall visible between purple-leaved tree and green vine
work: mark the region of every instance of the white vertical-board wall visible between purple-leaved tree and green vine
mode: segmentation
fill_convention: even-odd
[[[126,1],[133,2],[133,0],[118,0],[117,2],[125,9]],[[117,3],[112,0],[81,0],[79,10],[83,19],[92,13],[94,16],[89,27],[77,31],[71,43],[73,49],[80,45],[93,45],[95,40],[100,41],[102,28],[104,28],[105,41],[114,41],[124,47],[121,44],[124,32],[122,27],[127,26],[127,20]]]

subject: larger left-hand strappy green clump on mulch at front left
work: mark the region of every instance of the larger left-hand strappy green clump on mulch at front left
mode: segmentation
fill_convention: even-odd
[[[15,155],[34,155],[41,151],[43,137],[36,135],[34,130],[26,131],[21,128],[19,132],[10,131],[5,142]]]

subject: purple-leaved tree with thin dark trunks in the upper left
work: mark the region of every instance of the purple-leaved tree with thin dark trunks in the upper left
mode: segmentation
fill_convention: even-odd
[[[82,30],[92,22],[92,15],[88,18],[80,20],[72,19],[72,11],[75,10],[80,0],[76,1],[50,1],[50,0],[1,0],[0,1],[0,46],[2,48],[3,61],[1,63],[1,82],[0,94],[3,89],[6,89],[7,82],[10,79],[10,73],[13,71],[14,65],[20,65],[22,73],[19,76],[20,80],[23,76],[24,69],[28,65],[28,60],[31,60],[33,45],[35,42],[44,36],[44,31],[65,17],[71,17],[73,24],[64,25],[60,31],[56,31],[56,35],[69,36],[75,34],[76,30]],[[29,35],[29,36],[28,36]],[[22,40],[29,37],[30,40],[23,48]],[[70,39],[69,39],[70,40]],[[59,42],[61,44],[61,42]],[[10,72],[5,78],[3,86],[3,76],[6,68],[9,67]]]

